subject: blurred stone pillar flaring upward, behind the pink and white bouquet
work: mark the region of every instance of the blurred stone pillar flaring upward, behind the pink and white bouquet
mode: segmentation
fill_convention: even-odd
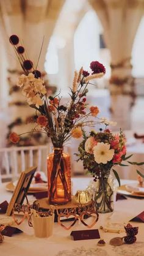
[[[143,0],[89,0],[104,27],[104,39],[111,54],[109,81],[112,119],[123,130],[131,128],[134,102],[131,51],[143,15]],[[131,29],[132,28],[132,29]]]

